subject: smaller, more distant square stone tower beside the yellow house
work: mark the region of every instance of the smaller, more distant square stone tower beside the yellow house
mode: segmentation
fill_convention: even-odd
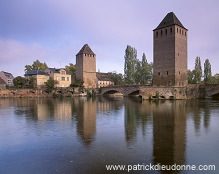
[[[76,55],[76,79],[83,80],[85,88],[96,88],[96,55],[87,44]]]

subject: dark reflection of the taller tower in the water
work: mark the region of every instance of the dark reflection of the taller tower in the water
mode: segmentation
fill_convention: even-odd
[[[185,163],[185,102],[165,101],[153,111],[154,163]]]

